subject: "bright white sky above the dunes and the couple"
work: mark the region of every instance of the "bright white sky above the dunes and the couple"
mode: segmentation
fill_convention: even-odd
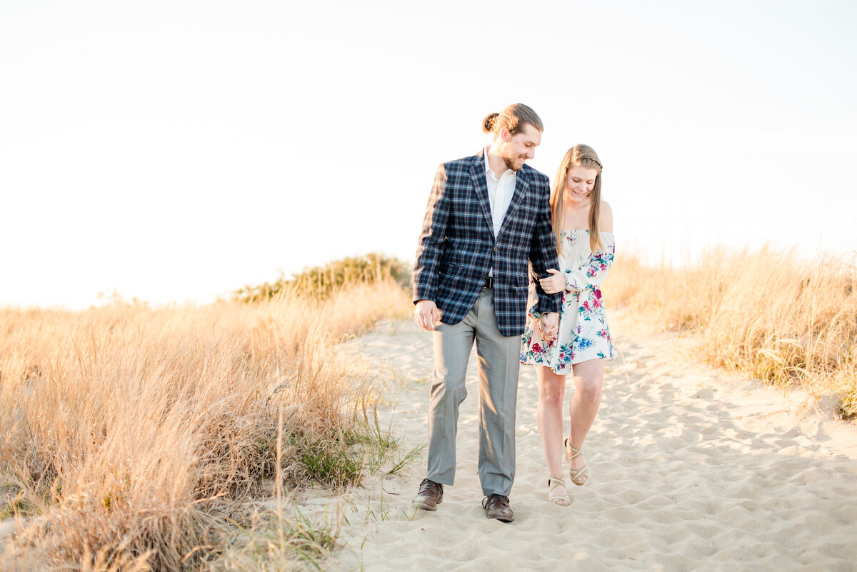
[[[437,165],[529,104],[618,250],[857,249],[857,3],[0,4],[0,306],[211,301],[413,259]]]

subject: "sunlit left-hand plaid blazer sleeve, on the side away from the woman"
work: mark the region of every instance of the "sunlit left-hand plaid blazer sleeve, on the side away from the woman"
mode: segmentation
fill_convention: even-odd
[[[434,176],[434,185],[428,196],[423,230],[417,244],[417,262],[414,264],[413,301],[436,301],[438,265],[446,228],[449,221],[450,197],[446,193],[446,165],[441,164]]]

